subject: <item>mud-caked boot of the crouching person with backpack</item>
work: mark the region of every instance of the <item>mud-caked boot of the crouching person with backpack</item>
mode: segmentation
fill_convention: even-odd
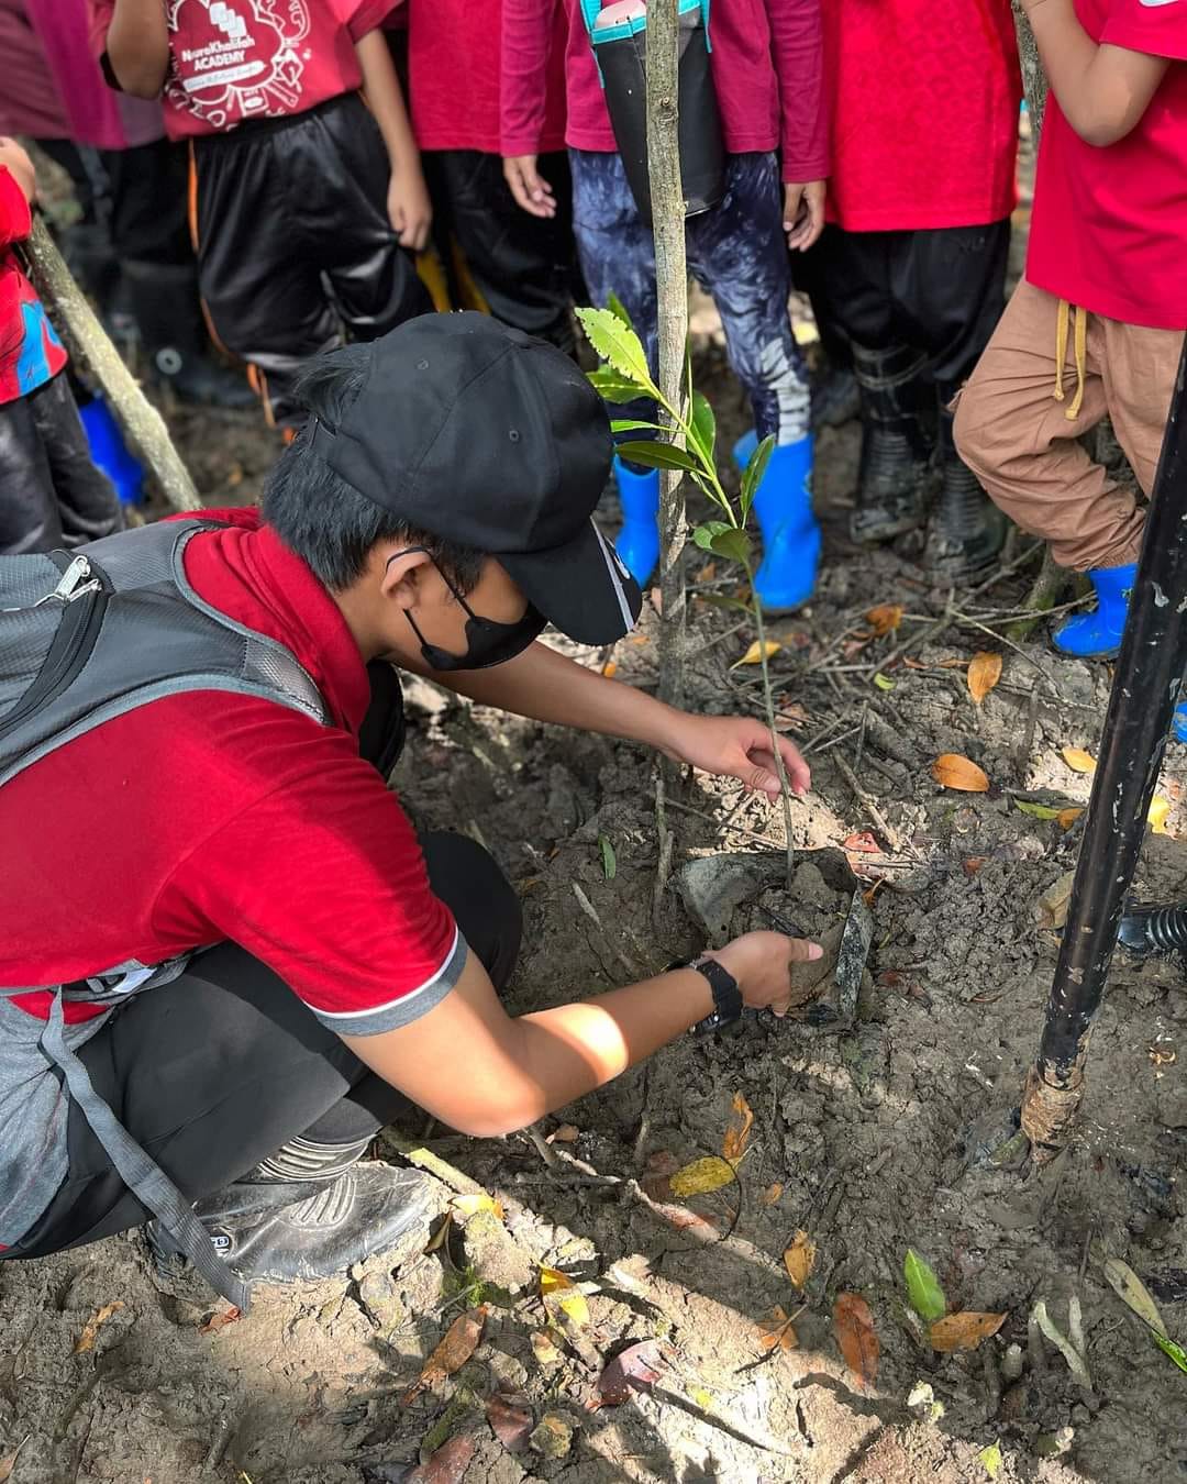
[[[432,1181],[415,1169],[359,1163],[355,1144],[289,1140],[242,1180],[194,1204],[218,1255],[249,1284],[322,1279],[398,1248],[427,1229]],[[177,1281],[188,1264],[156,1221],[148,1245],[159,1273]]]

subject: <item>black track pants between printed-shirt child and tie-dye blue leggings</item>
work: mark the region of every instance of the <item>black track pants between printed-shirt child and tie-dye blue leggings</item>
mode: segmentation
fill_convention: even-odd
[[[540,174],[556,196],[556,215],[548,221],[515,205],[497,154],[426,150],[421,163],[435,227],[453,233],[494,318],[571,353],[577,251],[568,157],[540,156]]]

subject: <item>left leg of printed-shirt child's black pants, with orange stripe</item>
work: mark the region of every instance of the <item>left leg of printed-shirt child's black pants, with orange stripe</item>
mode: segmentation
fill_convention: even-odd
[[[276,129],[196,139],[190,227],[212,332],[249,368],[277,426],[300,421],[291,386],[301,364],[340,340],[338,316],[301,239],[280,174]],[[334,223],[325,224],[335,232]]]

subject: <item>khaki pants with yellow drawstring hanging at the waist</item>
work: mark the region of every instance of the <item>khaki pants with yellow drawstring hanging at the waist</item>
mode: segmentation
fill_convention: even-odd
[[[994,503],[1061,567],[1137,561],[1145,515],[1077,442],[1113,418],[1148,496],[1181,329],[1088,315],[1022,280],[960,393],[956,442]]]

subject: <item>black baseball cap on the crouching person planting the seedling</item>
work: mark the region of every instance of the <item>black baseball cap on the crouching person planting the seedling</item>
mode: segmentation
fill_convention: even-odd
[[[421,315],[372,341],[362,390],[313,451],[374,505],[485,552],[549,622],[610,644],[642,595],[594,524],[614,444],[564,352],[488,315]]]

